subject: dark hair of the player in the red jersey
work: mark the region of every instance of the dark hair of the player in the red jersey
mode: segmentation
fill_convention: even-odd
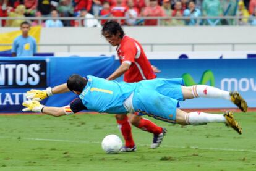
[[[120,33],[120,38],[124,37],[124,30],[122,30],[121,25],[118,22],[112,20],[105,22],[103,25],[101,34],[104,35],[106,33],[109,35],[116,35],[117,33]]]

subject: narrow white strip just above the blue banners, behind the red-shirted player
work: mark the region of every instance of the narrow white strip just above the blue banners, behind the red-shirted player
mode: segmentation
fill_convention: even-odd
[[[145,52],[148,59],[247,59],[256,58],[256,51]],[[115,56],[116,52],[56,52],[55,56]]]

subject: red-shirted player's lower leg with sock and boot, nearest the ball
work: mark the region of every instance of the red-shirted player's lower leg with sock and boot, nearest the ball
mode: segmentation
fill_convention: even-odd
[[[132,127],[130,127],[130,123],[126,114],[116,114],[116,122],[118,127],[124,137],[125,145],[121,149],[122,152],[131,152],[136,151],[136,146],[134,143],[134,139],[132,138]]]

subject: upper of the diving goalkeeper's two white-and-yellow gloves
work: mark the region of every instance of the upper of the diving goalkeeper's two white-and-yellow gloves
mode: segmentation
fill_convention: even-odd
[[[28,99],[32,99],[35,101],[41,101],[45,98],[48,98],[49,96],[53,96],[53,92],[51,91],[51,87],[46,88],[46,90],[32,89],[30,91],[27,91],[25,96]]]

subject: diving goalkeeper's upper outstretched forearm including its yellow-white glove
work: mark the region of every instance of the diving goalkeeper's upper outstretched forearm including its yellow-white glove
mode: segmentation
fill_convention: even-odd
[[[26,98],[41,101],[45,98],[48,98],[49,96],[53,96],[53,94],[60,94],[60,93],[66,93],[70,91],[69,88],[67,88],[67,84],[64,83],[62,85],[54,86],[54,88],[48,87],[46,90],[36,90],[32,89],[30,91],[27,91],[25,94]]]

